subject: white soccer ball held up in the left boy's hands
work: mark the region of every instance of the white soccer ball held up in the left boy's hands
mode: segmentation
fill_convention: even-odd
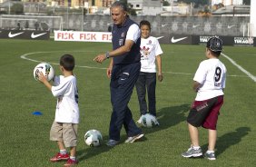
[[[34,67],[34,79],[36,81],[38,81],[39,78],[39,73],[43,72],[44,76],[47,77],[48,81],[51,81],[54,79],[54,68],[52,65],[47,64],[47,63],[41,63],[41,64],[37,64]]]

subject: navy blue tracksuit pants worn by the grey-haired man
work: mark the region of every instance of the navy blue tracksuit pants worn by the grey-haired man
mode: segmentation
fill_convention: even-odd
[[[128,137],[132,137],[142,130],[133,121],[133,114],[128,103],[133,93],[133,87],[138,79],[141,63],[113,65],[110,91],[113,113],[111,115],[109,137],[119,141],[122,126]]]

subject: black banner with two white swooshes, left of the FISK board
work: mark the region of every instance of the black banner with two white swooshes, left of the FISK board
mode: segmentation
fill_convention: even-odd
[[[0,38],[48,40],[50,39],[50,32],[35,30],[0,30]]]

